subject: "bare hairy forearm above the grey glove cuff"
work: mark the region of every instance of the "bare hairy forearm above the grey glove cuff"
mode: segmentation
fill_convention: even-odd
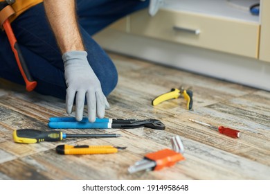
[[[74,0],[44,0],[48,21],[62,53],[84,51]]]

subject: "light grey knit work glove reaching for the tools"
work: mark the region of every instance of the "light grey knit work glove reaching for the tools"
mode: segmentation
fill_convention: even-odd
[[[69,51],[62,55],[62,59],[67,85],[66,112],[71,114],[76,96],[76,120],[82,121],[86,96],[89,121],[96,121],[96,114],[98,118],[103,118],[109,103],[102,92],[100,81],[89,65],[87,52]]]

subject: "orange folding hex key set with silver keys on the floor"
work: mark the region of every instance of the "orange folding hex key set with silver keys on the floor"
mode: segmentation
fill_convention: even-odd
[[[181,155],[183,153],[183,143],[180,137],[174,136],[171,142],[174,150],[164,149],[145,155],[144,159],[137,161],[134,166],[128,168],[129,173],[136,173],[141,170],[161,170],[184,160],[185,158]]]

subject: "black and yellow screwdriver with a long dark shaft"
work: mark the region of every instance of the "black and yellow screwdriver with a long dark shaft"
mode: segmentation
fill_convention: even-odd
[[[120,134],[65,134],[60,131],[44,132],[40,130],[21,129],[13,132],[13,139],[17,143],[39,143],[41,141],[62,141],[68,137],[119,137]]]

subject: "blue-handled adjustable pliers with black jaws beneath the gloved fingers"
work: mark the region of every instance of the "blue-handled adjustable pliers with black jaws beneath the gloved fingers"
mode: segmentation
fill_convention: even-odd
[[[148,127],[154,130],[165,130],[165,125],[156,119],[113,119],[96,118],[94,123],[90,123],[88,118],[82,118],[78,122],[73,117],[51,117],[48,127],[54,129],[133,129],[138,127]]]

